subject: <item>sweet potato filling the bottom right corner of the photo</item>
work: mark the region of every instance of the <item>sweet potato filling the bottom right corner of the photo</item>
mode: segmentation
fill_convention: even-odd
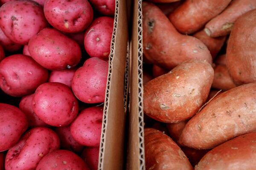
[[[247,133],[209,151],[195,170],[253,170],[256,133]]]

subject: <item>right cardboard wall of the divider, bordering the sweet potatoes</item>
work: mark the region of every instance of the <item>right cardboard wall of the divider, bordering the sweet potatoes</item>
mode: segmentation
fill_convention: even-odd
[[[145,170],[143,122],[142,0],[134,0],[131,37],[130,110],[127,170]]]

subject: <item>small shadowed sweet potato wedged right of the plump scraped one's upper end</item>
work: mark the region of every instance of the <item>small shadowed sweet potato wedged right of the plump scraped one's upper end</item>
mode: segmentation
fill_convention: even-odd
[[[235,88],[236,85],[228,73],[225,65],[216,65],[214,68],[214,79],[212,82],[212,88],[221,89],[224,91]]]

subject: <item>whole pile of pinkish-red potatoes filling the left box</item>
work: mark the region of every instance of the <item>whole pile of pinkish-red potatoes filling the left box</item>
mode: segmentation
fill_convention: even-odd
[[[96,170],[115,0],[0,2],[0,169]]]

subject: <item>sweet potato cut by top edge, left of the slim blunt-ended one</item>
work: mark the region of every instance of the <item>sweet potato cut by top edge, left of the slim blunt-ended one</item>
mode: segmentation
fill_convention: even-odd
[[[175,28],[183,34],[198,31],[210,19],[221,13],[231,0],[186,0],[169,19]]]

